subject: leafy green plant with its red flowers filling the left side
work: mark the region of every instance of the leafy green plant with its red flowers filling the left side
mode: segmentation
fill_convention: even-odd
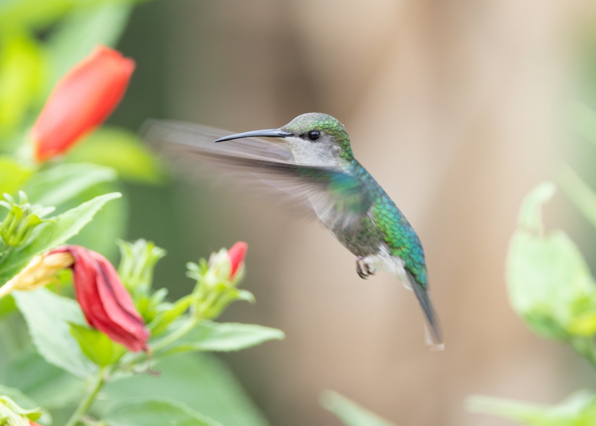
[[[89,53],[116,44],[135,3],[0,2],[0,425],[267,425],[228,369],[205,354],[284,338],[215,322],[232,301],[252,301],[238,289],[246,244],[189,264],[197,285],[177,301],[153,288],[165,251],[152,242],[120,241],[119,274],[97,253],[114,252],[125,231],[120,182],[164,179],[134,132],[92,132],[122,97],[134,61],[106,47]],[[111,79],[105,61],[127,71]],[[80,97],[88,109],[73,109]],[[66,242],[78,246],[55,250]],[[75,300],[70,286],[81,280],[89,294]],[[89,301],[106,316],[92,317]],[[135,352],[114,339],[122,341],[121,316],[136,312],[151,335]]]

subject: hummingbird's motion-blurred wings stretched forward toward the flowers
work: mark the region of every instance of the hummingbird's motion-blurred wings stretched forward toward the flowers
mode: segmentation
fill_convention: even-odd
[[[297,164],[284,143],[242,138],[214,143],[232,132],[172,121],[148,121],[141,135],[176,165],[215,166],[236,182],[269,189],[294,209],[349,227],[366,214],[373,195],[357,177],[320,166]],[[340,223],[341,221],[341,223]]]

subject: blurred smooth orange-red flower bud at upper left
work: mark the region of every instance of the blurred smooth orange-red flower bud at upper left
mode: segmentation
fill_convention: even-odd
[[[105,46],[73,67],[56,85],[33,126],[35,158],[66,152],[100,125],[126,91],[135,61]]]

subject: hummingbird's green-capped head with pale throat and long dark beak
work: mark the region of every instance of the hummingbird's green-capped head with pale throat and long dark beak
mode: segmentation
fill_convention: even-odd
[[[346,128],[338,119],[323,113],[302,114],[278,129],[238,133],[216,142],[246,137],[283,138],[299,163],[342,168],[354,159]]]

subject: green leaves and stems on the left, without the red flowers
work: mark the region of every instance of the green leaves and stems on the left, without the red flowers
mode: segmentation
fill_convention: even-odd
[[[116,45],[135,3],[0,2],[0,194],[7,193],[2,205],[8,206],[0,209],[8,241],[0,247],[0,286],[35,256],[66,242],[114,258],[128,224],[126,197],[115,200],[122,182],[156,185],[166,179],[156,156],[124,128],[103,126],[46,163],[32,156],[30,128],[58,79],[98,44]],[[27,199],[19,199],[19,191]],[[225,291],[225,304],[210,311],[213,319],[229,302],[247,298],[237,289],[240,278],[229,276],[225,249],[215,264],[201,263],[201,273],[218,271],[215,287],[170,302],[166,289],[152,288],[163,249],[145,240],[122,242],[121,248],[120,273],[151,330],[153,354],[128,352],[90,328],[69,297],[72,289],[65,288],[70,273],[63,273],[61,287],[0,298],[0,395],[26,409],[41,407],[44,426],[77,424],[85,412],[113,426],[266,426],[228,369],[203,354],[284,337],[277,329],[217,323],[197,313],[201,297],[221,300]],[[102,387],[103,398],[95,401]]]

